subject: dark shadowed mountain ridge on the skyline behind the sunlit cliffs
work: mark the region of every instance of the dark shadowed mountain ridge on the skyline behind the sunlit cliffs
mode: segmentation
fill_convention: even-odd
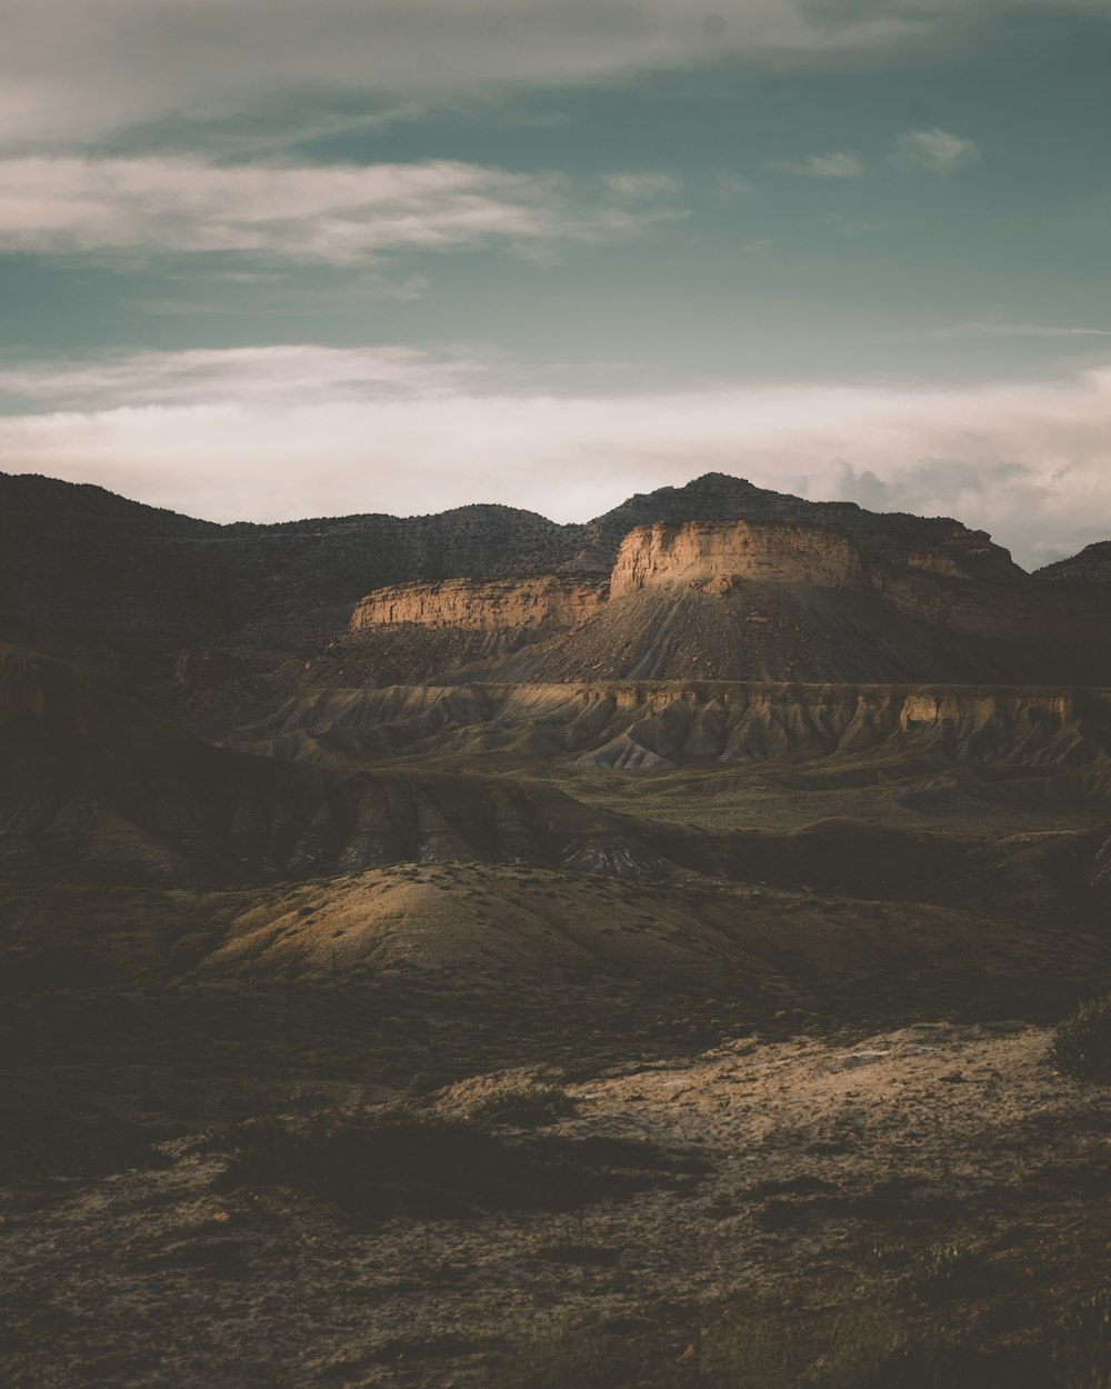
[[[637,525],[725,518],[836,525],[878,560],[918,554],[954,576],[1021,576],[1005,550],[957,521],[807,501],[722,474],[633,496],[582,525],[501,506],[215,525],[101,488],[0,474],[0,640],[144,682],[187,679],[196,653],[214,650],[243,674],[325,646],[387,585],[607,575]],[[211,675],[211,663],[200,669]]]

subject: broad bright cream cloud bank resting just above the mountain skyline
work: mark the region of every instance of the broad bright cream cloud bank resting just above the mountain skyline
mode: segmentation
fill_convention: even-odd
[[[487,500],[583,519],[708,469],[957,515],[1030,567],[1111,536],[1111,364],[976,388],[510,393],[397,347],[114,356],[6,372],[0,468],[212,519]]]

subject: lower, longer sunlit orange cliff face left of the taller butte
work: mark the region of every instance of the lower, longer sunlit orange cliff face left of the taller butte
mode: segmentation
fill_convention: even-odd
[[[599,611],[604,579],[444,579],[376,589],[357,604],[351,631],[415,624],[465,632],[553,632],[575,626]]]

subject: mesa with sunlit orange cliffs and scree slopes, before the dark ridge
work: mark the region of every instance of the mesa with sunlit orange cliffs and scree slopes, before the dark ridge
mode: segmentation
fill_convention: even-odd
[[[315,678],[1111,682],[1100,592],[1032,579],[968,532],[899,549],[862,517],[639,525],[608,585],[375,590]]]

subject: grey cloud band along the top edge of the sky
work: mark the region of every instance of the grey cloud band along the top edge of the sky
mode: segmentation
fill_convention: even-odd
[[[1058,22],[1105,13],[1060,0]],[[406,110],[737,60],[786,69],[943,49],[1011,0],[6,0],[8,147],[339,103]],[[353,113],[343,113],[351,115]],[[286,113],[287,117],[287,113]],[[272,129],[271,124],[271,129]]]

